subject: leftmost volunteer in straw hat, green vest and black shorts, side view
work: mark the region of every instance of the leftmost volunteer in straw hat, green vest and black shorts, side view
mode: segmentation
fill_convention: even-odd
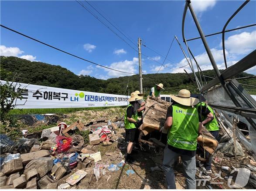
[[[129,101],[129,105],[127,106],[126,113],[124,115],[124,126],[125,126],[125,140],[128,142],[127,145],[127,156],[126,156],[126,163],[134,163],[136,162],[131,153],[133,150],[133,144],[136,142],[136,139],[139,138],[139,126],[141,125],[142,121],[138,121],[138,112],[135,105],[137,105],[138,101],[143,99],[135,92],[131,93]]]

